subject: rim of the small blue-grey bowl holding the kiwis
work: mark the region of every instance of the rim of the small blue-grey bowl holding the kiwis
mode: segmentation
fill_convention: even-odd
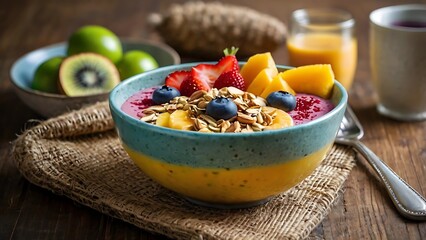
[[[170,47],[169,45],[162,43],[162,42],[156,42],[156,41],[152,41],[152,40],[138,40],[138,39],[134,39],[134,38],[120,38],[121,44],[122,45],[128,45],[128,44],[147,44],[147,45],[152,45],[155,47],[158,47],[159,49],[164,49],[165,52],[168,52],[171,56],[171,58],[173,59],[173,65],[170,66],[174,66],[174,65],[179,65],[181,64],[181,58],[179,56],[179,54],[176,52],[176,50],[174,50],[172,47]],[[9,70],[9,80],[12,83],[12,85],[16,88],[19,89],[23,92],[26,92],[27,94],[32,94],[32,95],[39,95],[39,96],[43,96],[43,97],[49,97],[49,98],[56,98],[56,99],[85,99],[87,97],[102,97],[102,96],[108,96],[109,92],[106,93],[98,93],[98,94],[91,94],[91,95],[86,95],[86,96],[66,96],[63,94],[57,94],[57,93],[48,93],[48,92],[43,92],[43,91],[39,91],[39,90],[34,90],[31,89],[29,87],[24,86],[23,84],[20,84],[19,81],[17,81],[16,76],[18,75],[18,66],[26,59],[28,58],[30,55],[34,55],[37,54],[39,52],[43,52],[43,51],[47,51],[47,50],[52,50],[52,49],[61,49],[61,48],[66,48],[67,46],[67,42],[58,42],[58,43],[53,43],[53,44],[49,44],[34,50],[31,50],[25,54],[23,54],[22,56],[20,56],[18,59],[16,59],[10,70]],[[65,56],[65,55],[58,55],[58,56]],[[166,67],[166,66],[164,66]]]

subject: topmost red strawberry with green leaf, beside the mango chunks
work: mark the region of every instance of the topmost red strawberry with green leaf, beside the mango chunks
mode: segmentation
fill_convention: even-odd
[[[216,64],[198,64],[192,68],[192,77],[197,81],[205,82],[210,88],[213,87],[214,82],[222,73],[240,70],[237,58],[233,55],[237,50],[238,48],[232,48],[231,52],[229,52],[228,49],[225,49],[225,56]]]

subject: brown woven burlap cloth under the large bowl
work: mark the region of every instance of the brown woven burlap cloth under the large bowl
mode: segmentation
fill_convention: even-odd
[[[264,205],[218,210],[194,205],[143,174],[123,150],[107,102],[42,121],[13,143],[32,183],[174,239],[304,239],[323,220],[355,165],[333,146],[303,182]]]

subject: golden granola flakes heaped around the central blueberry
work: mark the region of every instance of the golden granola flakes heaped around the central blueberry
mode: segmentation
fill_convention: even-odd
[[[237,116],[228,120],[215,120],[206,114],[207,104],[217,98],[226,97],[237,105]],[[267,107],[266,100],[249,92],[235,87],[212,88],[210,91],[199,90],[190,97],[178,96],[170,102],[150,106],[142,110],[142,121],[155,124],[161,113],[173,113],[176,110],[185,110],[193,125],[191,130],[199,132],[258,132],[273,123],[276,108]]]

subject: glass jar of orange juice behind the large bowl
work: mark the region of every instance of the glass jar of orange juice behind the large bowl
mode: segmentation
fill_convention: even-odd
[[[331,64],[349,90],[357,64],[355,20],[340,9],[299,9],[292,13],[287,39],[289,65]]]

